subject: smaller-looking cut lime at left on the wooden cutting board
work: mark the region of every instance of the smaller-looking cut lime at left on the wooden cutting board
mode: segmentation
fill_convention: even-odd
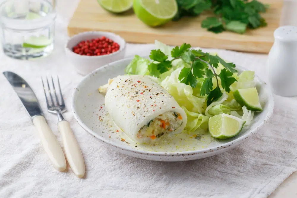
[[[132,7],[133,0],[97,0],[99,5],[109,12],[125,12]]]

